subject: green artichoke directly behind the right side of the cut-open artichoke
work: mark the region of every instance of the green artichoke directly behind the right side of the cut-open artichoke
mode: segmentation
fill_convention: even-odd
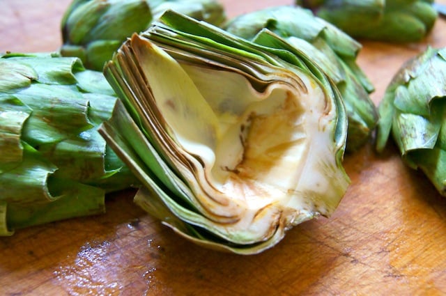
[[[355,63],[359,43],[299,7],[277,6],[240,15],[224,29],[253,42],[262,29],[269,29],[311,56],[341,91],[348,114],[347,149],[356,150],[369,139],[378,114],[369,98],[374,86]]]

